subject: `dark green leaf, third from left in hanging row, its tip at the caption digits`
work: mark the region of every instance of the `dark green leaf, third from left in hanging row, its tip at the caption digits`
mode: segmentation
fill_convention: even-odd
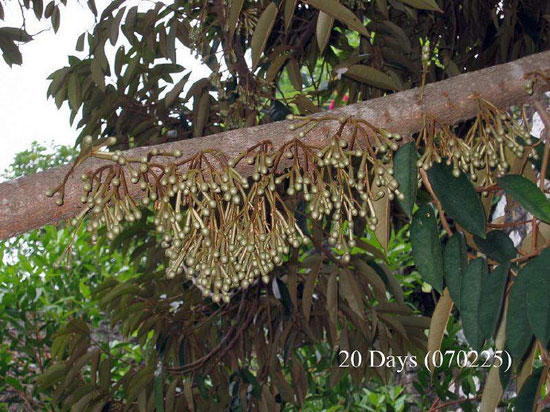
[[[477,258],[470,262],[460,290],[460,317],[464,336],[473,350],[481,350],[484,341],[483,331],[479,326],[479,314],[481,303],[481,285],[487,276],[487,261],[484,258]]]

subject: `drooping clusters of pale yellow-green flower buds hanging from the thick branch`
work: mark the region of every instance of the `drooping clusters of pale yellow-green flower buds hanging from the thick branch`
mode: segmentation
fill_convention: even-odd
[[[257,279],[267,283],[291,248],[311,241],[288,199],[304,202],[312,221],[330,224],[327,242],[348,263],[356,246],[356,217],[374,230],[380,218],[374,202],[403,198],[393,177],[393,153],[401,136],[351,117],[290,120],[297,120],[290,126],[298,132],[296,138],[278,148],[260,142],[235,159],[217,149],[186,159],[178,150],[158,149],[129,158],[120,151],[100,150],[105,144],[90,147],[86,140],[83,156],[112,163],[82,176],[86,207],[72,223],[86,219],[93,238],[104,226],[113,239],[124,222],[142,217],[140,207],[152,206],[168,258],[166,275],[193,280],[214,302],[228,302],[234,290],[246,289]],[[337,131],[324,147],[308,145],[302,138],[325,121],[338,122]],[[427,169],[447,159],[457,174],[467,173],[485,186],[506,171],[510,154],[521,157],[527,150],[536,155],[525,116],[512,117],[486,101],[480,101],[479,115],[465,138],[426,116],[416,144],[421,152],[418,167]],[[237,170],[241,162],[252,169],[250,177]],[[130,185],[143,192],[141,205]],[[48,194],[62,201],[63,190],[64,182]]]

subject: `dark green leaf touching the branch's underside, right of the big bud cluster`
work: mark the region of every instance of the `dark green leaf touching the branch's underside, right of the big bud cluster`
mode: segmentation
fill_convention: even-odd
[[[417,159],[418,153],[414,142],[405,143],[401,146],[395,152],[393,158],[393,176],[399,183],[399,191],[405,197],[403,200],[398,199],[398,202],[409,219],[412,217],[412,209],[418,189]]]

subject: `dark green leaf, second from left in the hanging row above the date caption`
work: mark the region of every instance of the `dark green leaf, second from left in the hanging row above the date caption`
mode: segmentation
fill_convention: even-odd
[[[468,266],[466,255],[466,241],[462,233],[457,232],[449,238],[443,253],[443,273],[445,283],[449,288],[449,294],[456,307],[460,309],[460,294],[462,289],[462,277]]]

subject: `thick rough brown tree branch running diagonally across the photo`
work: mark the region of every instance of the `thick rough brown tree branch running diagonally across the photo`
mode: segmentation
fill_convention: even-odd
[[[477,97],[485,98],[499,107],[522,104],[529,97],[525,92],[526,74],[548,69],[550,52],[538,53],[511,63],[429,84],[425,88],[423,102],[419,101],[420,89],[411,89],[350,105],[332,111],[331,114],[363,118],[374,125],[406,136],[421,129],[424,113],[448,124],[475,116]],[[289,123],[270,123],[157,147],[161,151],[179,149],[184,158],[207,148],[218,148],[228,157],[233,157],[261,140],[270,140],[278,147],[295,137],[297,132],[289,131]],[[337,122],[323,122],[309,132],[304,140],[309,144],[320,145],[331,136],[337,126]],[[148,147],[132,149],[126,155],[138,157],[149,150]],[[62,181],[68,166],[1,183],[0,239],[75,216],[83,208],[80,202],[80,176],[101,164],[105,164],[105,161],[88,159],[76,169],[67,181],[63,206],[57,206],[54,199],[45,196],[45,192]],[[248,172],[245,164],[241,166],[241,171]],[[137,197],[141,194],[135,186],[131,191]]]

